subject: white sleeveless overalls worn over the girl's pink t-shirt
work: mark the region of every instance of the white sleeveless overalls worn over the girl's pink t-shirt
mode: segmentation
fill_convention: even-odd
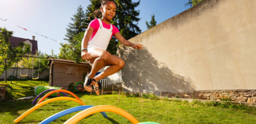
[[[93,39],[88,43],[88,52],[95,48],[107,50],[109,40],[112,36],[112,24],[110,24],[110,29],[106,29],[103,27],[101,19],[98,19],[98,21],[100,23],[100,27],[96,32],[95,36],[93,36]]]

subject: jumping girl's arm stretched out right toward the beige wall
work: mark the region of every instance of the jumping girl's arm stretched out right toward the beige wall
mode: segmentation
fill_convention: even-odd
[[[143,47],[142,47],[141,44],[133,44],[132,42],[126,40],[126,39],[120,34],[120,32],[117,32],[114,36],[116,37],[116,39],[117,39],[118,41],[120,41],[122,44],[124,44],[124,45],[126,45],[126,46],[132,46],[132,48],[134,48],[134,49],[140,49],[140,50],[143,49]]]

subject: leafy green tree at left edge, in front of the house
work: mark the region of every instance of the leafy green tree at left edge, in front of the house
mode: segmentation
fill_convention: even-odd
[[[14,63],[18,62],[25,53],[30,52],[30,45],[21,43],[19,46],[13,48],[9,42],[9,38],[12,37],[13,32],[8,31],[5,28],[0,28],[0,74],[11,68]]]

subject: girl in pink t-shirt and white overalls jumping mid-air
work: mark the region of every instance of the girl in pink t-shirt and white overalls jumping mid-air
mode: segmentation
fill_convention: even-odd
[[[116,3],[114,0],[101,0],[101,19],[94,19],[90,22],[85,31],[82,40],[81,57],[83,60],[89,60],[92,65],[91,72],[85,77],[84,88],[91,92],[93,85],[97,95],[100,95],[98,81],[118,72],[124,67],[124,60],[111,55],[106,51],[109,40],[115,36],[122,44],[131,46],[134,49],[142,50],[141,44],[133,44],[120,34],[116,26],[110,24],[110,21],[116,15]],[[102,73],[94,75],[104,66],[109,66]]]

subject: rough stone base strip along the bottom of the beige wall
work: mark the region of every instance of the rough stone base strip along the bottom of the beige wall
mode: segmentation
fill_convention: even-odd
[[[162,96],[171,98],[256,103],[256,90],[202,90],[177,94],[165,92],[162,93]]]

